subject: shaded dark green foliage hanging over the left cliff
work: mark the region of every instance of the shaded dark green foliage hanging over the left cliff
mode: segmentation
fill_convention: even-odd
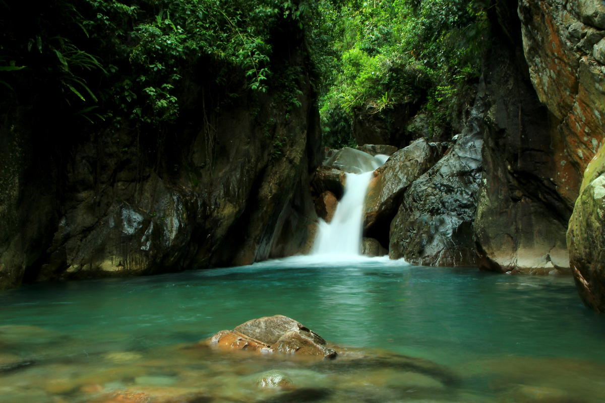
[[[19,91],[10,73],[22,69],[88,120],[154,125],[178,116],[175,87],[195,63],[219,85],[244,77],[265,92],[271,29],[284,19],[302,27],[310,13],[290,0],[49,0],[31,18],[24,3],[0,0],[0,86]]]

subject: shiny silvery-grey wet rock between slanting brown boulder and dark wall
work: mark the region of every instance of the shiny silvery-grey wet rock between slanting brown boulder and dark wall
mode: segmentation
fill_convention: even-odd
[[[477,265],[473,221],[483,144],[477,97],[469,126],[428,172],[410,184],[391,222],[388,256],[414,265]]]

